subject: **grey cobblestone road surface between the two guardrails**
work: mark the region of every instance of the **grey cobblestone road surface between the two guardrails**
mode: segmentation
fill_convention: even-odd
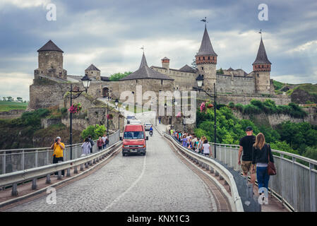
[[[147,132],[148,133],[148,132]],[[217,211],[203,181],[155,131],[145,156],[121,153],[94,174],[6,211]]]

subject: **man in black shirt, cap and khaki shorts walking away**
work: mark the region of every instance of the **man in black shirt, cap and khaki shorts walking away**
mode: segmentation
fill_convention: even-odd
[[[251,173],[251,184],[255,184],[256,182],[256,174],[252,171],[252,146],[253,143],[256,143],[256,136],[253,136],[253,129],[251,126],[246,127],[246,136],[240,139],[240,148],[239,148],[239,156],[238,156],[238,164],[241,165],[241,169],[243,171],[244,176],[248,176],[248,172]],[[242,155],[242,164],[241,164],[241,154]]]

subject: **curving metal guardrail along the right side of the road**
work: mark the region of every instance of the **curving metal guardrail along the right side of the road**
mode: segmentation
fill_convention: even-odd
[[[210,159],[209,157],[205,157],[203,155],[198,155],[197,153],[193,153],[187,148],[184,148],[179,143],[177,143],[172,136],[169,136],[166,132],[163,133],[163,135],[166,138],[169,138],[170,141],[172,141],[179,149],[181,149],[187,156],[189,156],[191,159],[198,161],[200,164],[204,164],[208,167],[210,167],[210,170],[215,170],[220,176],[225,179],[227,184],[230,186],[231,191],[231,200],[229,199],[230,206],[234,212],[244,212],[244,208],[241,202],[241,198],[239,196],[239,192],[237,189],[237,184],[234,181],[234,177],[229,172],[228,169],[220,165],[220,163],[216,162],[213,159]]]

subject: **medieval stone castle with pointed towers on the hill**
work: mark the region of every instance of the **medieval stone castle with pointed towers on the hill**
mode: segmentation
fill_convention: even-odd
[[[49,40],[38,52],[38,68],[34,71],[33,84],[30,85],[30,109],[51,107],[63,100],[68,91],[69,83],[81,86],[82,76],[68,75],[63,69],[63,51]],[[253,62],[253,71],[246,73],[242,69],[234,70],[231,67],[217,73],[217,54],[210,42],[207,28],[203,33],[201,47],[196,54],[196,68],[187,64],[181,69],[169,68],[169,59],[162,59],[162,66],[148,66],[143,52],[138,70],[119,81],[109,81],[109,77],[101,76],[100,70],[91,64],[85,69],[92,82],[88,94],[92,97],[118,98],[124,91],[136,93],[137,85],[142,85],[142,93],[148,90],[160,91],[193,90],[197,87],[197,79],[203,78],[203,89],[213,92],[214,83],[217,90],[217,102],[222,104],[249,103],[253,98],[265,100],[268,97],[275,100],[277,105],[287,105],[291,102],[286,95],[275,95],[273,80],[270,79],[271,63],[265,52],[261,37],[256,60]],[[119,71],[119,70],[118,70]],[[208,98],[203,93],[198,98]],[[124,100],[121,100],[124,101]],[[59,102],[61,105],[61,102]]]

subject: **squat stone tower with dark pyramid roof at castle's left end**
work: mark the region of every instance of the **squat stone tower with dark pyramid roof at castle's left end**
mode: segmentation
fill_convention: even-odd
[[[67,80],[67,71],[63,69],[64,52],[52,40],[49,40],[37,52],[39,66],[34,71],[35,76],[42,75]]]

